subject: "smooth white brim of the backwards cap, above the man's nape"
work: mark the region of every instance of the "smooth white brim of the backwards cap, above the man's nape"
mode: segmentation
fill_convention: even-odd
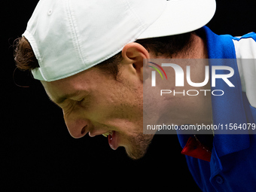
[[[209,23],[215,10],[215,0],[167,1],[163,14],[138,39],[178,35],[200,29]]]

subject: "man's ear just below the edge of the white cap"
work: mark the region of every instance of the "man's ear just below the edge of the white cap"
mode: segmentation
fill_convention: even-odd
[[[133,65],[133,70],[139,75],[143,81],[143,59],[149,59],[148,50],[141,44],[130,43],[126,44],[122,50],[123,64]]]

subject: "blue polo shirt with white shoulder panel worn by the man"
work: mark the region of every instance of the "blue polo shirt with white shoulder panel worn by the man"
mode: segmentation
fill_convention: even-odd
[[[206,38],[209,59],[256,58],[256,34],[240,38],[216,35],[208,27],[198,31]],[[212,63],[209,63],[211,66]],[[215,64],[214,64],[215,65]],[[221,62],[218,63],[221,65]],[[256,123],[256,63],[243,67],[232,62],[234,75],[230,81],[236,88],[216,83],[215,90],[224,90],[223,96],[212,96],[212,120],[221,123]],[[210,73],[211,74],[211,73]],[[229,88],[229,90],[227,90]],[[248,131],[249,133],[249,131]],[[190,136],[178,135],[181,147]],[[210,162],[186,155],[187,166],[203,191],[256,191],[256,135],[215,134]]]

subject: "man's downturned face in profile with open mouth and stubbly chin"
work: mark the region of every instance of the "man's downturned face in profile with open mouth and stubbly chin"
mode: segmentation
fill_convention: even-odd
[[[133,159],[143,157],[152,135],[144,135],[143,83],[133,65],[120,68],[118,81],[92,68],[58,81],[41,81],[50,99],[62,108],[74,138],[108,135],[111,148],[126,148]]]

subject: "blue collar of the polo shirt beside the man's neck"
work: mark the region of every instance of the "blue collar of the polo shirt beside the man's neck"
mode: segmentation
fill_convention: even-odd
[[[229,126],[229,123],[247,123],[245,109],[242,102],[242,89],[239,71],[236,64],[236,52],[231,35],[216,35],[208,27],[203,27],[206,35],[209,59],[222,59],[218,62],[210,62],[210,66],[227,64],[234,69],[234,75],[229,80],[235,87],[228,87],[224,81],[216,83],[212,90],[224,90],[223,96],[212,96],[212,120],[215,125]],[[230,59],[230,62],[224,61]],[[211,69],[211,67],[210,67]],[[210,72],[210,74],[212,74]],[[237,130],[236,130],[237,131]],[[244,132],[243,132],[244,133]],[[215,134],[214,148],[218,157],[231,154],[248,148],[250,139],[245,135]]]

